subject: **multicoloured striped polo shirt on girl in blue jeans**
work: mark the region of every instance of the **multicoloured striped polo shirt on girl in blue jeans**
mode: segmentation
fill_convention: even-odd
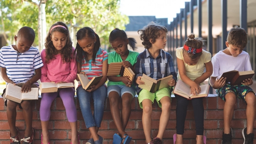
[[[95,62],[93,62],[92,60],[86,62],[85,58],[83,58],[81,71],[85,72],[89,80],[91,80],[94,76],[100,76],[102,75],[102,63],[106,59],[107,52],[104,49],[100,48],[96,53]]]

